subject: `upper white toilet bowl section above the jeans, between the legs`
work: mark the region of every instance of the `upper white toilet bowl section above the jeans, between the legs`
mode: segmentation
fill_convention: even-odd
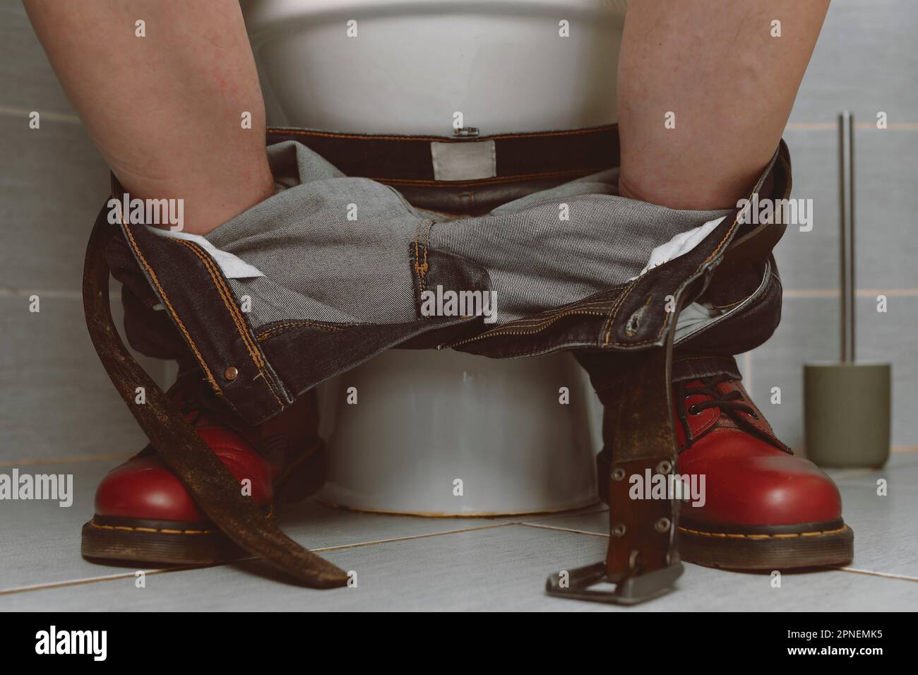
[[[625,0],[241,0],[270,126],[481,135],[616,119]]]

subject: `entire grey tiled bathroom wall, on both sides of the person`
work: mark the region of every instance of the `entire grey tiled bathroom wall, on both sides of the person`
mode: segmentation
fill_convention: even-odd
[[[843,108],[862,125],[856,131],[858,356],[892,362],[893,442],[918,445],[915,35],[912,0],[834,0],[785,136],[794,196],[812,198],[813,228],[792,227],[778,245],[784,320],[769,343],[739,360],[760,407],[794,447],[802,443],[801,365],[838,353],[834,124]],[[33,110],[41,114],[40,129],[28,128]],[[887,113],[888,129],[876,128],[878,111]],[[16,0],[0,0],[0,159],[0,466],[134,452],[142,434],[99,366],[80,298],[85,242],[106,197],[106,166]],[[885,313],[876,310],[880,294],[888,298]],[[33,295],[39,312],[29,311]],[[162,363],[143,363],[164,377]],[[779,405],[769,403],[774,387],[781,389]]]

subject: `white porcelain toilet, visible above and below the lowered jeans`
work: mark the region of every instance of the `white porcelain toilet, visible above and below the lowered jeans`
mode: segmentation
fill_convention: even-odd
[[[241,0],[267,121],[450,136],[616,119],[625,0]],[[457,118],[458,115],[458,118]],[[319,501],[425,516],[598,500],[601,407],[573,356],[391,350],[319,387]]]

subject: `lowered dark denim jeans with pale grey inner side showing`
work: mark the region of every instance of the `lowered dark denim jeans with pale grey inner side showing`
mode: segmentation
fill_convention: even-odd
[[[194,364],[247,422],[394,347],[492,358],[577,350],[581,362],[601,357],[625,370],[635,352],[663,343],[678,308],[693,306],[710,316],[677,332],[674,377],[738,377],[731,354],[778,325],[770,251],[718,272],[752,229],[740,208],[621,197],[610,167],[453,217],[344,175],[297,141],[271,146],[269,158],[274,196],[207,235],[261,276],[228,276],[200,242],[124,221],[106,255],[125,285],[129,342]],[[782,141],[753,192],[785,198],[789,187]],[[712,221],[694,248],[644,271],[656,247]],[[493,292],[497,322],[425,312],[437,289]]]

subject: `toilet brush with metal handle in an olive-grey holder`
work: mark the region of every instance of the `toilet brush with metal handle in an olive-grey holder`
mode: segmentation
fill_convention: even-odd
[[[855,360],[854,118],[838,116],[841,362],[803,366],[806,455],[821,467],[882,467],[890,456],[890,364]]]

